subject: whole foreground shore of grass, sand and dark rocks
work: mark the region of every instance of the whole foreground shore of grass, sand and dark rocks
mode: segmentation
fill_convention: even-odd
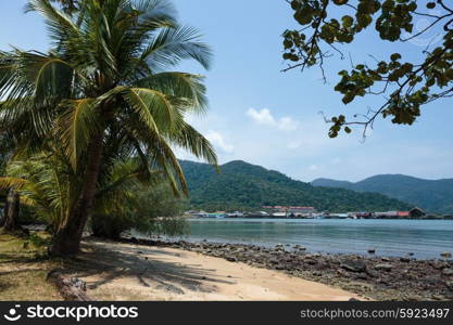
[[[453,300],[452,260],[92,236],[76,258],[60,260],[45,258],[45,246],[28,246],[26,238],[1,240],[0,300],[28,301],[30,291],[61,300],[61,289],[47,281],[53,272],[85,282],[95,301]]]

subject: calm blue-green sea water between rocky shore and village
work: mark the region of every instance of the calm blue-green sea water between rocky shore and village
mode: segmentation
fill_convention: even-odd
[[[190,235],[198,242],[244,243],[263,246],[299,244],[312,252],[366,253],[439,258],[453,252],[453,220],[272,220],[192,219]]]

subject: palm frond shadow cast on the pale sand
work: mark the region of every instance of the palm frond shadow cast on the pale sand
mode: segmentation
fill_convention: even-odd
[[[185,290],[213,292],[216,283],[234,284],[231,278],[227,281],[214,276],[214,270],[201,264],[183,265],[171,260],[184,256],[184,252],[93,238],[85,240],[83,248],[85,252],[65,272],[75,272],[77,277],[88,278],[89,289],[100,288],[119,278],[135,280],[144,289],[176,295],[184,295]]]

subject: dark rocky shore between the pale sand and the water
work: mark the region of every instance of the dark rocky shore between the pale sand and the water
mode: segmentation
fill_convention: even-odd
[[[122,239],[137,245],[172,247],[279,270],[375,300],[453,300],[453,261],[414,258],[309,253],[304,247]]]

